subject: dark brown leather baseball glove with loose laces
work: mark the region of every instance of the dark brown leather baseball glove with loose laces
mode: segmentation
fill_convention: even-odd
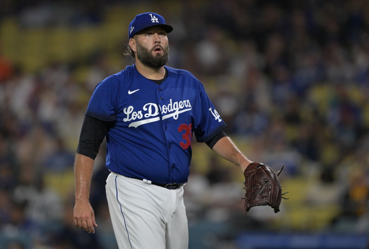
[[[274,208],[274,213],[279,212],[280,201],[284,198],[282,188],[279,183],[279,176],[282,169],[275,173],[268,165],[260,162],[252,162],[249,164],[244,172],[244,189],[245,193],[245,214],[250,208],[255,206],[270,206]]]

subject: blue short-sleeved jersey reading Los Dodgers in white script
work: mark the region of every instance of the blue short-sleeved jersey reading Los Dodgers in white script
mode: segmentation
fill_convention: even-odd
[[[157,183],[185,183],[192,137],[205,142],[224,129],[203,84],[186,70],[166,67],[160,84],[135,65],[97,84],[86,115],[113,121],[106,134],[106,167]]]

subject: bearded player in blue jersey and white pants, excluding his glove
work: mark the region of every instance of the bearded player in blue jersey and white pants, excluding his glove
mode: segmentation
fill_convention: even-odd
[[[106,137],[106,194],[121,249],[187,249],[183,204],[193,134],[241,167],[251,163],[224,133],[226,126],[203,85],[185,70],[165,66],[173,28],[156,13],[128,27],[135,64],[97,84],[75,158],[74,224],[97,227],[89,204],[94,159]]]

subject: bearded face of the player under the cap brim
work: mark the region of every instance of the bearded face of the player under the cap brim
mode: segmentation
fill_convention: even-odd
[[[137,59],[149,67],[162,67],[169,59],[169,43],[164,29],[147,28],[136,39]]]

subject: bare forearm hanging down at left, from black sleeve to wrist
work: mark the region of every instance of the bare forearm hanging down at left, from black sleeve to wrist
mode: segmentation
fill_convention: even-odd
[[[74,164],[76,202],[89,201],[94,162],[92,158],[76,153]]]

